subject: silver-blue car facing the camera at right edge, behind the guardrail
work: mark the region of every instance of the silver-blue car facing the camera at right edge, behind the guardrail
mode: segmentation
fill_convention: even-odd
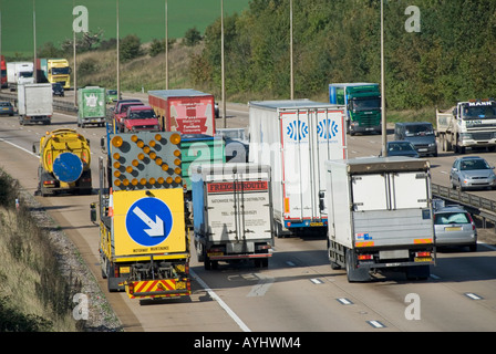
[[[494,167],[478,156],[459,157],[455,159],[450,171],[450,185],[459,190],[495,188]]]

